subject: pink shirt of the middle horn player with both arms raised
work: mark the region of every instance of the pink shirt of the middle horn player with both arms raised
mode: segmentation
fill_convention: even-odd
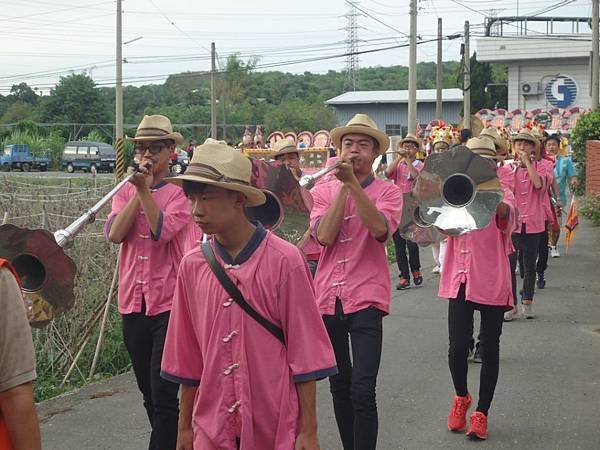
[[[341,188],[342,183],[335,180],[312,189],[314,203],[310,227],[314,236],[317,235],[319,221]],[[388,237],[391,236],[402,216],[402,192],[394,184],[372,176],[363,183],[363,189],[385,218]],[[341,300],[346,314],[369,306],[389,312],[391,285],[385,245],[385,242],[371,236],[348,195],[337,242],[321,250],[315,277],[321,314],[334,314],[336,298]]]

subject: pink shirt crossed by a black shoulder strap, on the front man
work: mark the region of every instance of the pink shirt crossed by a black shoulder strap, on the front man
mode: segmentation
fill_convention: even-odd
[[[248,303],[283,330],[286,343],[229,298],[197,248],[179,267],[161,375],[198,386],[195,449],[234,450],[236,438],[243,450],[293,449],[295,383],[337,373],[306,262],[261,226],[235,260],[214,238],[211,245]]]

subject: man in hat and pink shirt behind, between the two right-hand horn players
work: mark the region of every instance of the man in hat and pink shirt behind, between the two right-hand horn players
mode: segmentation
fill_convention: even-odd
[[[396,147],[398,157],[385,170],[385,176],[394,181],[403,194],[412,190],[415,179],[423,169],[424,164],[416,159],[416,154],[421,148],[421,141],[412,134],[398,141]],[[421,275],[421,261],[419,259],[419,246],[407,241],[398,230],[393,234],[394,247],[396,248],[396,262],[400,271],[400,280],[396,289],[410,288],[410,274],[412,273],[415,286],[423,284]],[[408,258],[406,252],[408,250]]]

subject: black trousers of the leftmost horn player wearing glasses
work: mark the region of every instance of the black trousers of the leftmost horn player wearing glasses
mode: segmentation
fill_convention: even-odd
[[[179,385],[160,376],[169,311],[157,316],[146,316],[142,312],[122,317],[123,340],[152,427],[148,449],[175,450]]]

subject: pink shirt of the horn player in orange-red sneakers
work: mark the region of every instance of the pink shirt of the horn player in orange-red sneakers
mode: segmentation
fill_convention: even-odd
[[[513,305],[510,265],[511,233],[516,217],[512,191],[503,186],[503,202],[509,206],[506,219],[493,214],[490,224],[462,236],[450,236],[446,244],[444,271],[440,277],[438,296],[455,299],[465,284],[465,299],[491,306]]]

